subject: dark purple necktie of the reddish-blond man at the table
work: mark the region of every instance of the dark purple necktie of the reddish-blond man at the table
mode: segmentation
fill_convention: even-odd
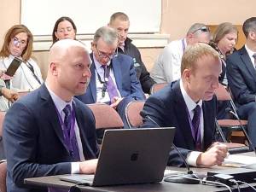
[[[201,151],[201,132],[200,132],[200,117],[201,117],[201,107],[196,105],[194,108],[194,116],[192,119],[194,139],[195,139],[195,149]]]

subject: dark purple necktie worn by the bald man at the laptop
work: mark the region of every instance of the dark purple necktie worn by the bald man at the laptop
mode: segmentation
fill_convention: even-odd
[[[66,105],[66,107],[63,109],[63,112],[65,113],[65,118],[64,118],[64,125],[65,128],[67,129],[67,134],[70,137],[70,132],[72,129],[72,109],[69,104]],[[75,120],[75,119],[73,119]],[[74,129],[74,127],[73,127]],[[74,131],[74,130],[73,130]],[[73,134],[73,137],[71,138],[71,143],[72,143],[72,148],[73,148],[73,154],[72,158],[74,161],[80,161],[80,156],[79,156],[79,146],[77,143],[76,135]]]

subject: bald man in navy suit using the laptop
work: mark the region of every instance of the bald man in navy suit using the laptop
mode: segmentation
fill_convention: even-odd
[[[96,171],[95,119],[73,98],[87,87],[90,63],[83,44],[58,41],[49,51],[45,84],[9,108],[3,123],[9,192],[47,191],[27,188],[27,177]]]

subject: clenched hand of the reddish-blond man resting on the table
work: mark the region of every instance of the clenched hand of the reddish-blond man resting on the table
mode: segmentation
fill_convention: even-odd
[[[224,144],[213,143],[206,152],[201,153],[197,160],[198,166],[220,166],[224,162],[224,158],[228,154],[228,148]]]

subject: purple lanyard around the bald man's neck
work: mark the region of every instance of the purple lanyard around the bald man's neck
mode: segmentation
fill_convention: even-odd
[[[58,119],[59,119],[59,122],[61,124],[61,130],[62,130],[62,133],[63,133],[63,137],[64,137],[64,142],[65,142],[65,145],[69,151],[69,154],[71,156],[73,156],[73,146],[72,146],[72,139],[73,137],[75,137],[75,131],[74,131],[74,125],[75,125],[75,112],[74,112],[74,105],[72,103],[72,107],[73,107],[73,110],[72,110],[72,118],[71,118],[71,128],[70,128],[70,131],[68,133],[67,131],[67,127],[66,125],[64,124],[62,118],[61,118],[61,114],[59,113],[58,109],[55,107],[57,113],[58,113]]]

